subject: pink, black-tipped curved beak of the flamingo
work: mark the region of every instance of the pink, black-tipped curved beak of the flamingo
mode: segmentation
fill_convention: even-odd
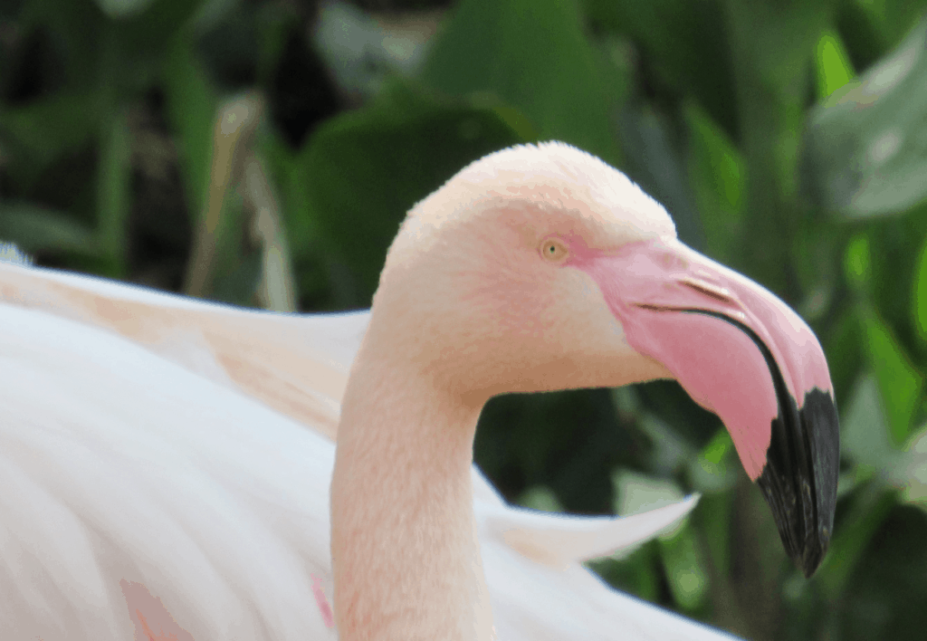
[[[840,428],[810,327],[767,289],[676,239],[578,248],[573,264],[596,280],[631,347],[721,418],[786,551],[814,574],[831,540]]]

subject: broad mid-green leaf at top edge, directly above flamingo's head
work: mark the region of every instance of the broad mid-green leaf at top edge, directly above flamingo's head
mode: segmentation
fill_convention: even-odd
[[[451,11],[421,77],[454,96],[487,91],[556,138],[616,164],[618,91],[603,78],[578,8],[559,0],[463,0]]]

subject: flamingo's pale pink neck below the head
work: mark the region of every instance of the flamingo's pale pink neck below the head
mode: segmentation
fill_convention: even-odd
[[[489,641],[470,468],[480,406],[362,348],[332,478],[342,641]]]

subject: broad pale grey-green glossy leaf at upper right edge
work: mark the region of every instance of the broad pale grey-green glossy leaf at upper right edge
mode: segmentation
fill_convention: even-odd
[[[927,198],[927,19],[895,51],[811,112],[805,187],[849,217]]]

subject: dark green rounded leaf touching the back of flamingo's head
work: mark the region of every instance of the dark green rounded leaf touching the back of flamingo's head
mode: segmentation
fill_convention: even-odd
[[[300,153],[303,208],[360,277],[354,305],[376,288],[405,213],[464,165],[521,142],[495,109],[438,101],[400,84],[323,125]]]

